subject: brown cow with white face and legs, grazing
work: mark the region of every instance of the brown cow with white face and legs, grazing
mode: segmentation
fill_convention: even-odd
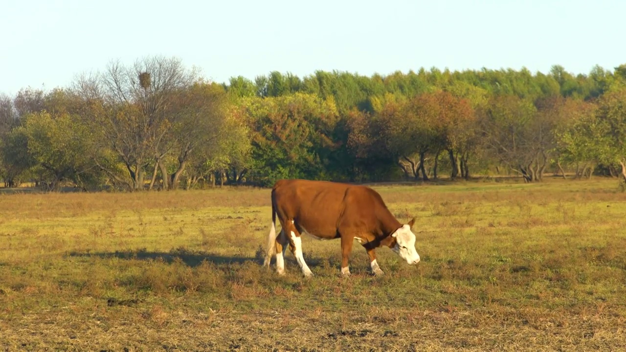
[[[282,229],[276,236],[276,215]],[[381,275],[376,262],[377,247],[387,246],[408,264],[417,264],[415,219],[401,224],[375,190],[362,185],[327,181],[279,180],[272,188],[272,227],[267,239],[264,266],[276,256],[276,271],[285,273],[287,244],[304,276],[311,276],[302,257],[300,234],[321,240],[341,238],[341,274],[350,275],[348,257],[352,243],[358,241],[369,255],[372,272]]]

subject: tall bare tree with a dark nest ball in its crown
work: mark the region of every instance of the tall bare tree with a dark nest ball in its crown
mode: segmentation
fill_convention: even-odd
[[[167,136],[172,116],[178,113],[180,91],[197,76],[181,61],[159,56],[132,66],[113,61],[105,72],[76,81],[74,90],[90,101],[88,116],[94,133],[124,163],[132,189],[143,189],[146,168],[151,164],[156,172],[160,160],[172,150]]]

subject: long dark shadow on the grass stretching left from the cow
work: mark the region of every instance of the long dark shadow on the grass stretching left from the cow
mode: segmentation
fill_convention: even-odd
[[[70,252],[70,257],[98,257],[98,258],[119,258],[119,259],[138,259],[138,260],[163,260],[167,263],[172,263],[177,259],[180,259],[183,263],[190,267],[197,267],[202,264],[203,261],[210,262],[215,265],[225,264],[244,264],[245,262],[255,262],[257,264],[263,264],[263,257],[257,251],[255,257],[244,256],[219,256],[207,252],[193,252],[187,249],[172,249],[169,252],[148,252],[143,249],[136,251],[115,251],[115,252]]]

